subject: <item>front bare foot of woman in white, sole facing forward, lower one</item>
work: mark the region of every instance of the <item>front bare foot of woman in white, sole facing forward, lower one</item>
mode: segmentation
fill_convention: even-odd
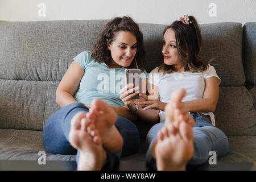
[[[188,123],[182,121],[178,128],[170,123],[159,131],[155,147],[159,171],[185,170],[193,152],[193,131]]]

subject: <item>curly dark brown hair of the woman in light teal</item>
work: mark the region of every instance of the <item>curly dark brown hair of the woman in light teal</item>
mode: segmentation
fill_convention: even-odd
[[[92,47],[92,57],[96,59],[98,63],[109,64],[110,61],[112,61],[112,56],[108,50],[106,40],[108,40],[109,44],[112,44],[118,31],[129,31],[137,39],[136,55],[130,66],[127,68],[139,68],[144,70],[145,51],[143,45],[143,34],[139,30],[138,24],[129,16],[123,16],[122,18],[115,17],[105,25],[100,35],[98,35],[97,42]]]

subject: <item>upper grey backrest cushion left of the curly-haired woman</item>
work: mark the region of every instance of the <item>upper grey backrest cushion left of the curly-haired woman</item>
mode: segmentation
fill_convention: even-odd
[[[0,78],[60,81],[73,57],[92,48],[105,22],[0,21]]]

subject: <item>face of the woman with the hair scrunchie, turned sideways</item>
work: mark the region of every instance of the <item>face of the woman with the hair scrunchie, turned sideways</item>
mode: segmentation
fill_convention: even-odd
[[[164,64],[173,65],[175,69],[180,69],[183,63],[177,52],[177,44],[175,33],[172,28],[168,28],[163,36],[163,50]]]

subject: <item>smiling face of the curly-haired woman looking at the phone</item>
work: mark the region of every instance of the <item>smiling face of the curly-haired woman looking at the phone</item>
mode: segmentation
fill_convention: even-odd
[[[109,67],[129,67],[137,52],[136,37],[129,31],[119,31],[115,33],[114,41],[107,45],[112,56]]]

